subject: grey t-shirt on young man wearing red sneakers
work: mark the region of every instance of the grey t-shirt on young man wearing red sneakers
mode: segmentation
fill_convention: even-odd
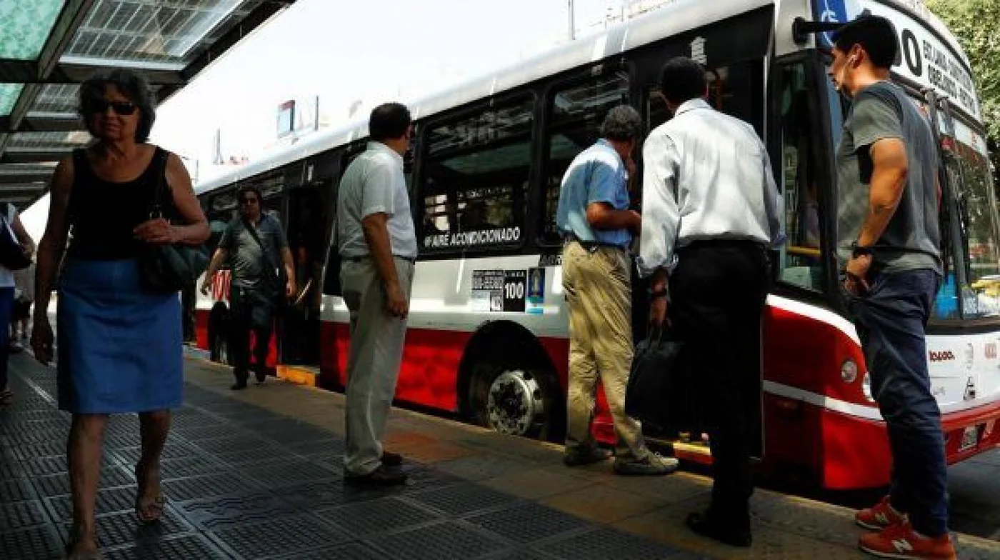
[[[884,272],[941,267],[938,224],[938,154],[928,119],[906,93],[890,82],[873,84],[855,97],[837,150],[837,258],[851,256],[869,209],[872,144],[900,138],[906,145],[908,173],[902,199],[875,245],[875,264]]]

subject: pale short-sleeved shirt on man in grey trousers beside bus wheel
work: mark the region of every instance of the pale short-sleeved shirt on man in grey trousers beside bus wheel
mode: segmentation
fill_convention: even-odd
[[[371,253],[361,220],[384,212],[392,254],[416,258],[417,234],[410,212],[410,195],[403,175],[403,157],[381,142],[354,159],[337,191],[337,248],[345,258]]]

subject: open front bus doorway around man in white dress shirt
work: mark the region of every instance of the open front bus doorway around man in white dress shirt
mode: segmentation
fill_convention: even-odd
[[[735,62],[726,66],[709,66],[706,68],[709,84],[709,104],[724,113],[733,115],[746,122],[751,123],[758,131],[763,130],[764,111],[764,74],[763,60],[746,60]],[[647,132],[652,131],[657,126],[669,120],[672,115],[667,109],[666,101],[660,93],[658,73],[650,74],[642,87],[644,91],[643,103],[645,109],[645,119]],[[637,154],[637,157],[641,154]],[[642,166],[642,162],[637,162]],[[640,175],[641,177],[641,175]],[[641,180],[639,180],[641,183]],[[634,310],[635,340],[639,341],[645,337],[645,326],[649,320],[649,303],[644,297],[645,282],[636,285],[635,292],[639,292],[639,297],[634,298],[637,308]],[[695,357],[694,359],[697,359]],[[698,453],[707,453],[708,435],[705,422],[704,405],[706,395],[702,386],[697,382],[696,376],[691,379],[679,380],[675,385],[679,391],[669,397],[669,402],[665,403],[674,412],[674,422],[671,426],[648,426],[644,425],[649,435],[654,438],[660,437],[675,442],[675,453],[683,451],[681,446],[694,446],[700,448]],[[760,413],[757,417],[760,418]],[[759,435],[758,430],[754,432]],[[755,457],[762,455],[762,438],[753,438],[757,445],[752,448]]]

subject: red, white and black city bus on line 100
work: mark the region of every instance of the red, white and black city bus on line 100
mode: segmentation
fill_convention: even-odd
[[[915,0],[680,0],[409,103],[416,135],[405,174],[420,256],[396,401],[561,440],[569,342],[555,227],[560,180],[611,107],[636,107],[647,131],[668,119],[660,70],[689,56],[706,68],[709,102],[765,139],[785,200],[788,242],[774,254],[763,321],[759,468],[828,489],[886,484],[885,425],[838,289],[834,150],[848,105],[825,74],[823,24],[864,10],[893,21],[902,47],[893,79],[940,140],[947,274],[927,359],[948,461],[998,446],[1000,255],[985,132],[966,56]],[[322,130],[196,189],[216,232],[233,216],[236,189],[262,190],[287,227],[300,287],[269,366],[311,373],[333,390],[345,385],[349,339],[330,246],[336,191],[366,135],[365,122]],[[218,274],[196,304],[197,345],[221,362],[229,359],[228,282]],[[648,309],[643,287],[637,279],[636,340]],[[679,393],[664,406],[710,398],[697,384]],[[681,458],[710,461],[702,438],[688,435],[701,433],[689,416],[690,429],[649,426],[650,437]],[[614,441],[603,394],[594,432]]]

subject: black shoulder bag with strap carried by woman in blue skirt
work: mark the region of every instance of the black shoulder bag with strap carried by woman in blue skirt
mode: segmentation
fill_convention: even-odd
[[[149,218],[164,218],[163,209],[173,205],[170,186],[163,180],[167,169],[167,154],[158,155],[156,190]],[[168,199],[167,197],[170,196]],[[139,254],[139,283],[148,292],[170,294],[193,286],[208,266],[208,257],[198,247],[183,243],[147,243]]]

